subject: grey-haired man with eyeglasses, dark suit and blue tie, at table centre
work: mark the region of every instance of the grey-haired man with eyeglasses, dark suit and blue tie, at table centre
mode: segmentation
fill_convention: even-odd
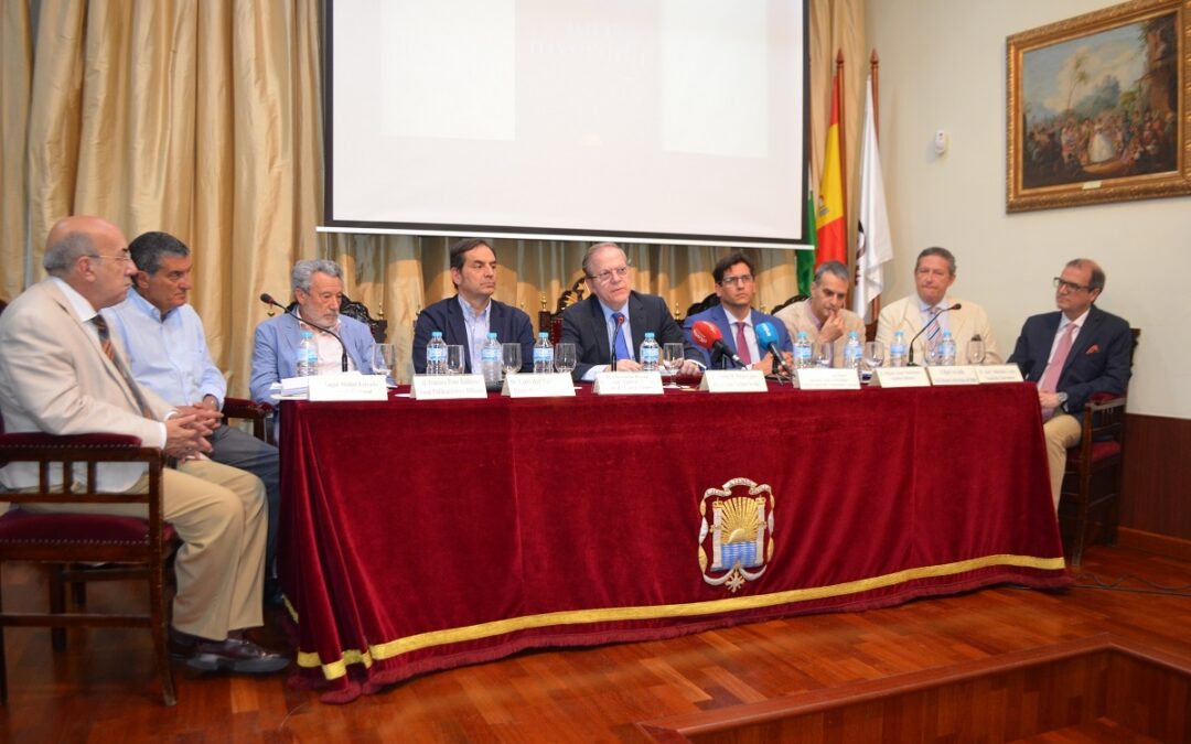
[[[591,382],[613,365],[619,371],[641,369],[640,350],[646,332],[653,331],[659,345],[684,344],[679,374],[696,374],[699,350],[685,343],[682,329],[674,321],[666,300],[632,289],[629,258],[616,243],[597,243],[584,255],[584,275],[592,294],[562,313],[562,342],[575,344],[575,380]]]

